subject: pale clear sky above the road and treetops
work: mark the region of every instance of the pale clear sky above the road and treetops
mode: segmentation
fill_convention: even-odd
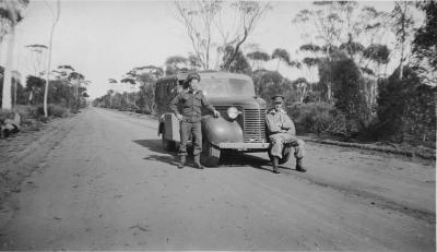
[[[255,43],[265,52],[275,48],[292,53],[304,44],[299,27],[292,24],[294,15],[310,5],[309,1],[274,1],[273,9],[250,35],[247,45]],[[390,11],[392,2],[362,2]],[[22,74],[34,73],[34,58],[26,45],[48,45],[54,21],[55,1],[31,0],[24,20],[16,27],[13,65]],[[4,65],[8,37],[0,48],[0,63]],[[61,0],[61,12],[52,40],[51,69],[69,64],[91,81],[91,97],[98,97],[109,88],[126,91],[122,84],[108,84],[108,79],[120,80],[134,67],[163,67],[170,56],[187,57],[192,52],[185,26],[175,17],[173,1]],[[276,69],[275,62],[265,65]],[[296,79],[299,72],[282,67],[280,72]]]

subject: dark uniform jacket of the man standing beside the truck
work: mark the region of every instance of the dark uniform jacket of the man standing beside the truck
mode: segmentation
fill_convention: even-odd
[[[178,105],[181,105],[182,112],[178,111]],[[199,122],[202,119],[202,106],[210,111],[214,111],[214,107],[208,103],[203,93],[198,91],[196,94],[192,91],[182,91],[170,103],[170,109],[175,115],[182,115],[188,122]]]

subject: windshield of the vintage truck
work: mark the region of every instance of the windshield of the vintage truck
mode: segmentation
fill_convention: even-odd
[[[253,83],[243,79],[202,79],[199,87],[206,97],[255,96]]]

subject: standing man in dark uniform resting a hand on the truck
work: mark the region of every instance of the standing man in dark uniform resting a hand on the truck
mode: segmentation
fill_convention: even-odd
[[[220,112],[208,103],[203,93],[198,89],[200,75],[197,73],[188,74],[184,82],[184,91],[179,93],[170,104],[170,109],[180,121],[180,145],[178,168],[181,169],[187,160],[187,141],[192,137],[194,168],[203,169],[200,164],[200,153],[202,152],[202,106],[218,117]],[[178,105],[181,105],[182,111],[179,112]]]

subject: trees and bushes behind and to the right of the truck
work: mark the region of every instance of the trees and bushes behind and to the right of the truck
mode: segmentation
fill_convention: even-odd
[[[272,8],[269,3],[176,1],[175,7],[193,53],[170,56],[163,67],[133,68],[120,81],[109,79],[108,93],[94,106],[153,115],[158,77],[213,69],[250,75],[268,103],[273,94],[284,94],[299,134],[436,147],[435,1],[394,2],[391,12],[358,2],[314,2],[291,16],[308,40],[296,48],[295,59],[282,48],[269,53],[257,44],[244,46]],[[240,20],[234,33],[211,28],[224,10]],[[421,15],[423,21],[415,19]],[[214,40],[214,32],[235,37]],[[265,68],[271,62],[275,69]],[[302,76],[290,80],[281,74],[285,68]],[[117,92],[118,86],[131,91]]]

